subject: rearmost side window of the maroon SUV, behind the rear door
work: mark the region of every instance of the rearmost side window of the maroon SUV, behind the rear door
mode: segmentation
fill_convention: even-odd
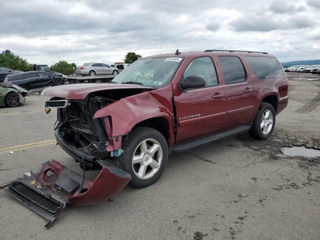
[[[245,56],[257,78],[272,79],[284,77],[280,63],[275,57],[269,56]]]

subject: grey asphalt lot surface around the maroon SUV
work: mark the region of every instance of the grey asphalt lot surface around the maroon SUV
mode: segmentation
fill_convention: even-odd
[[[289,104],[269,139],[245,133],[172,154],[155,184],[66,207],[49,229],[0,191],[0,238],[319,239],[320,159],[285,156],[281,147],[320,147],[320,75],[287,75]],[[43,142],[54,139],[56,117],[55,110],[44,113],[46,99],[33,93],[21,107],[0,108],[0,184],[51,159],[81,173],[59,146]],[[33,142],[40,143],[7,148]]]

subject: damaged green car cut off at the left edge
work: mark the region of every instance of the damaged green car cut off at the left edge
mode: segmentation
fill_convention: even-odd
[[[27,94],[27,90],[17,85],[10,82],[0,82],[0,106],[20,106],[24,103]]]

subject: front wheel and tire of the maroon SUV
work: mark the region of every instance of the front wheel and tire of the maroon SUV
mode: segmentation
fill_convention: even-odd
[[[152,146],[154,148],[158,146],[153,151],[154,155],[149,153]],[[122,149],[123,153],[119,157],[114,157],[114,160],[122,170],[131,175],[129,183],[132,186],[151,185],[162,175],[168,159],[168,146],[163,135],[157,130],[149,127],[133,129],[122,143]],[[135,163],[133,163],[134,155]]]

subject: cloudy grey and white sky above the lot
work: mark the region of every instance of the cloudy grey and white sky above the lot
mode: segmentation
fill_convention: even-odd
[[[320,59],[320,0],[0,0],[0,50],[30,63],[204,49]]]

